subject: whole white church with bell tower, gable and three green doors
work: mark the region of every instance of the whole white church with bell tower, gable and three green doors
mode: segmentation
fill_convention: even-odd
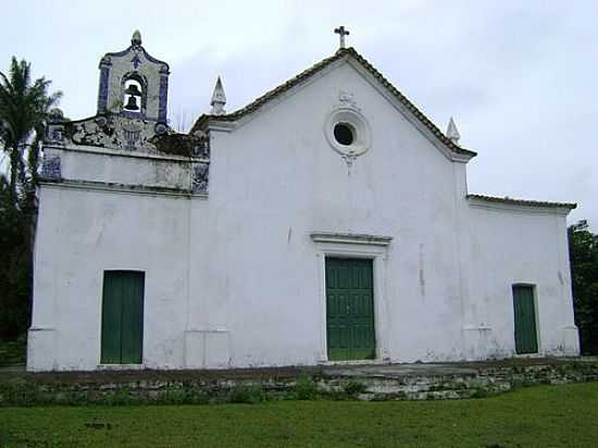
[[[136,33],[48,127],[27,369],[578,354],[571,203],[472,195],[459,146],[352,48],[167,125]]]

